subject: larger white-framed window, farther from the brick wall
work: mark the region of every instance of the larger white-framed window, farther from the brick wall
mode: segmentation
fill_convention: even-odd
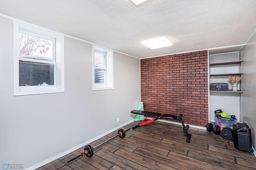
[[[64,92],[64,34],[14,20],[14,96]]]

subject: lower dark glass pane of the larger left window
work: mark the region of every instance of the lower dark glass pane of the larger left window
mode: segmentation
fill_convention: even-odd
[[[19,61],[19,86],[54,85],[54,64]]]

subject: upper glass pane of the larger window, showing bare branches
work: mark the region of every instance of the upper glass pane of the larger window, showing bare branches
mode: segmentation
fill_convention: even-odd
[[[54,61],[53,41],[19,33],[19,57]]]

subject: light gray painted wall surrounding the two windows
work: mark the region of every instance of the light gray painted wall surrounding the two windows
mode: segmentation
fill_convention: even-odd
[[[139,59],[114,52],[114,90],[92,91],[92,44],[65,37],[65,93],[13,96],[13,21],[0,25],[1,166],[29,168],[132,120]]]

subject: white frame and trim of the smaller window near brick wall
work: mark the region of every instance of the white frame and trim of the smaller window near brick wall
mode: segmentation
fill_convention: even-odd
[[[95,84],[94,74],[94,50],[106,52],[106,82],[104,84]],[[112,90],[114,89],[114,61],[113,50],[100,45],[92,45],[92,90]]]

